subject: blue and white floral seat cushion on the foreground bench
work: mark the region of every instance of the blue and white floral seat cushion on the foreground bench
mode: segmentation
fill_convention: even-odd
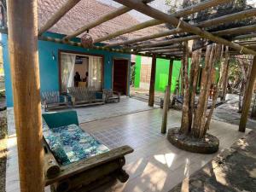
[[[44,138],[61,165],[109,151],[109,148],[80,129],[78,125],[49,128],[44,122],[43,127]]]

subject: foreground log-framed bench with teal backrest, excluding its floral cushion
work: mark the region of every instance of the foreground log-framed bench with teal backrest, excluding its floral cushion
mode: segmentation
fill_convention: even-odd
[[[79,125],[79,121],[75,111],[44,113],[43,125],[45,137],[47,129]],[[125,165],[125,154],[133,152],[129,146],[114,148],[68,165],[61,165],[46,140],[44,139],[45,186],[50,185],[51,191],[87,191],[113,178],[118,178],[122,183],[125,183],[129,178],[129,175],[122,168]]]

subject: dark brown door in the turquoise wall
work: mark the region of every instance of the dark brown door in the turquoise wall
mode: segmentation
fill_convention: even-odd
[[[128,60],[113,60],[113,91],[128,96]]]

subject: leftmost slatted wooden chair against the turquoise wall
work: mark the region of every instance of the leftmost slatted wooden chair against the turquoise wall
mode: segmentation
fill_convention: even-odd
[[[44,91],[41,93],[41,102],[45,111],[57,108],[67,108],[66,96],[61,96],[59,91]]]

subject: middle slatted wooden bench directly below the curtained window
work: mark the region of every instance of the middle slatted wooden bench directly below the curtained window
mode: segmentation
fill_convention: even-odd
[[[103,99],[97,99],[95,87],[68,87],[68,94],[72,97],[73,107],[84,107],[104,104]]]

